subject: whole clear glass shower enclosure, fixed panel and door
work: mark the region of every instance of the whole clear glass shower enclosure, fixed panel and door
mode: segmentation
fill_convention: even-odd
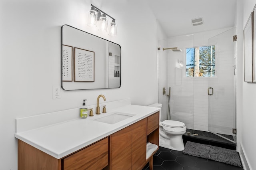
[[[163,105],[161,121],[168,118],[181,121],[190,135],[194,135],[194,130],[200,130],[236,142],[234,35],[236,28],[226,28],[158,41],[158,102]],[[202,46],[214,47],[211,53],[215,58],[211,58],[211,63],[200,58],[200,50],[203,49],[199,47]],[[169,47],[178,47],[182,51],[163,50]],[[188,52],[188,49],[192,48],[198,48],[200,57],[191,63],[188,57],[191,50]],[[206,65],[210,72],[214,70],[214,74],[194,76],[196,66],[198,70],[207,72]],[[192,71],[193,76],[188,76],[188,71]],[[167,94],[170,87],[170,100],[163,94],[163,87],[166,87]]]

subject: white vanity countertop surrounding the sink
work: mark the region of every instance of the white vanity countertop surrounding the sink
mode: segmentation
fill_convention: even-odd
[[[115,111],[134,114],[134,116],[115,124],[94,121],[94,119],[104,117],[108,115],[108,113]],[[24,131],[16,129],[15,137],[60,159],[122,128],[128,127],[157,111],[160,111],[160,108],[138,105],[118,107],[116,109],[107,110],[107,113],[101,113],[101,115],[96,115],[94,110],[94,117],[88,117],[87,119],[77,118]],[[17,119],[16,122],[18,122]]]

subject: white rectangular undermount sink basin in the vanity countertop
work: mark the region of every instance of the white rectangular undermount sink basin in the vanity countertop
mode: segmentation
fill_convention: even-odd
[[[112,113],[108,113],[107,116],[94,119],[94,121],[108,123],[108,124],[115,124],[120,121],[123,121],[124,119],[128,119],[129,117],[132,117],[132,116],[134,115],[130,113],[112,112]]]

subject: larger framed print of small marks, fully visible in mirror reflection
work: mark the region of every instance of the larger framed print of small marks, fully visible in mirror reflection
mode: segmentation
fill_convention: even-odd
[[[94,81],[94,52],[74,47],[74,81]]]

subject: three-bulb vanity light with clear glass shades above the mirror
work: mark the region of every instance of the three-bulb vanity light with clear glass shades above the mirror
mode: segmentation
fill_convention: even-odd
[[[110,26],[108,27],[108,16],[109,18],[112,19],[112,22],[110,22]],[[116,31],[117,31],[117,24],[116,20],[106,14],[106,12],[103,12],[96,6],[91,4],[91,9],[88,11],[88,22],[87,26],[90,27],[98,27],[98,31],[100,32],[107,32],[108,35],[110,36],[116,36]]]

